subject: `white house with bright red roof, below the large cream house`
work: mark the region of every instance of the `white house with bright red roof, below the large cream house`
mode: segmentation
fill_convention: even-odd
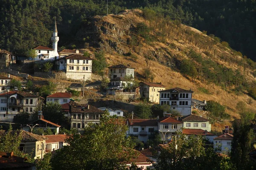
[[[72,97],[71,93],[55,93],[46,97],[47,102],[59,102],[59,104],[65,104],[70,102],[70,98]]]

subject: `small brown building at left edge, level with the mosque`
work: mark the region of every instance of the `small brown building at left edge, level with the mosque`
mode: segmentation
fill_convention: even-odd
[[[14,54],[0,49],[0,68],[9,67],[12,63],[16,63]]]

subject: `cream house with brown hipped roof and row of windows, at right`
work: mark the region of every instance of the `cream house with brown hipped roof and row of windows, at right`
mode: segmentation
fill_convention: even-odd
[[[208,132],[211,131],[212,125],[209,124],[209,120],[201,116],[190,114],[180,117],[179,120],[183,122],[183,127],[186,129],[202,129],[207,130]]]

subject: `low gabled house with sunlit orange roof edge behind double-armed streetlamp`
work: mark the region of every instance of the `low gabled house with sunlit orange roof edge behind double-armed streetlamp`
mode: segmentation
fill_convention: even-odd
[[[42,119],[42,118],[39,118],[33,122],[30,122],[27,125],[30,125],[31,127],[35,126],[33,130],[38,129],[38,128],[46,130],[47,128],[49,128],[52,130],[52,133],[55,135],[57,135],[59,133],[59,129],[61,127],[60,125],[57,125],[55,123],[52,123],[52,122],[50,122],[46,119]],[[30,127],[27,125],[23,125],[22,129],[27,132],[31,131]]]

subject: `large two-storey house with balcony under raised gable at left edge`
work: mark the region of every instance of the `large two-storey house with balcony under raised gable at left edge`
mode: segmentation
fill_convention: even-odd
[[[24,91],[9,91],[0,94],[0,121],[12,122],[20,112],[33,113],[43,104],[44,98]]]

